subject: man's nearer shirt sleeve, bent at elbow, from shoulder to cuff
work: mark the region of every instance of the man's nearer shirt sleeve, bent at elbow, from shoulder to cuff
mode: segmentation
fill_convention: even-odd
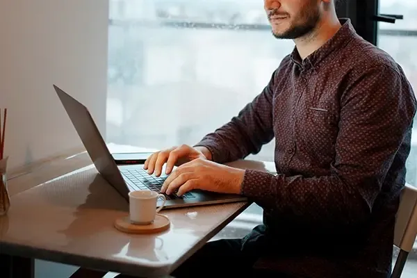
[[[246,170],[242,194],[272,215],[291,215],[304,224],[366,220],[395,154],[404,138],[411,138],[416,99],[403,75],[379,66],[366,70],[345,89],[340,113],[329,176],[274,176]],[[396,161],[399,167],[403,167],[409,147],[409,143],[402,146],[405,155]]]

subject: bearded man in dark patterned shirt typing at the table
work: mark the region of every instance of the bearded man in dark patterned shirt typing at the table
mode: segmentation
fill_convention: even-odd
[[[238,193],[263,208],[245,238],[207,243],[174,277],[389,277],[416,99],[401,67],[334,0],[265,0],[295,49],[260,95],[194,147],[156,152],[162,191]],[[222,163],[275,138],[273,176]],[[174,165],[179,165],[172,171]],[[281,276],[279,276],[281,275]]]

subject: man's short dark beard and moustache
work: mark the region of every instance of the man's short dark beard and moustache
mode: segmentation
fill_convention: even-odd
[[[275,10],[268,13],[268,17],[279,15]],[[282,33],[277,33],[272,30],[272,35],[277,39],[294,40],[309,35],[314,31],[318,22],[320,21],[320,11],[316,1],[309,1],[305,7],[301,9],[300,15],[295,17],[291,26]]]

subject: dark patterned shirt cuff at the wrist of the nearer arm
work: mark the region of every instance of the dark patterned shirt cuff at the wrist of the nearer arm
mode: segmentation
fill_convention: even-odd
[[[245,170],[240,194],[250,199],[265,199],[274,190],[274,175],[259,170]],[[265,196],[266,195],[266,196]]]

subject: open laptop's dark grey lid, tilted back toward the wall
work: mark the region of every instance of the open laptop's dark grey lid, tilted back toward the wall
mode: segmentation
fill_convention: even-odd
[[[66,92],[54,85],[54,89],[63,103],[65,111],[78,133],[97,171],[111,184],[125,199],[129,199],[129,189],[122,174],[111,156],[103,137],[97,128],[88,108]]]

